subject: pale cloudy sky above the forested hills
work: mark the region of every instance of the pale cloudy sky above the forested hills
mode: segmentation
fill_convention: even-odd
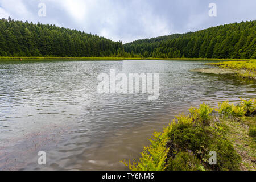
[[[39,3],[46,5],[40,17]],[[216,3],[217,17],[210,17]],[[56,24],[123,43],[256,19],[255,0],[0,0],[0,18]]]

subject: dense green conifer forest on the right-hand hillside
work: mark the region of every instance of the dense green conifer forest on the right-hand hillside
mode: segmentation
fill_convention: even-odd
[[[126,52],[158,58],[255,59],[256,20],[230,23],[205,30],[136,40]]]

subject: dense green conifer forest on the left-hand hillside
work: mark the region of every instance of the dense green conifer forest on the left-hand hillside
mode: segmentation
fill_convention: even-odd
[[[0,20],[0,56],[122,57],[122,42],[49,24]]]

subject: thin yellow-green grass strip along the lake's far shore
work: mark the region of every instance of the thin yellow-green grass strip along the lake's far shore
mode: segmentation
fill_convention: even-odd
[[[249,61],[252,59],[206,59],[206,58],[144,58],[144,57],[0,57],[1,60],[188,60],[188,61]],[[255,60],[256,61],[256,60]]]

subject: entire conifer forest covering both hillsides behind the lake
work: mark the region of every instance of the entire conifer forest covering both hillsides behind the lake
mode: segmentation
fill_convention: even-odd
[[[49,24],[0,20],[2,57],[255,59],[256,20],[122,44]]]

